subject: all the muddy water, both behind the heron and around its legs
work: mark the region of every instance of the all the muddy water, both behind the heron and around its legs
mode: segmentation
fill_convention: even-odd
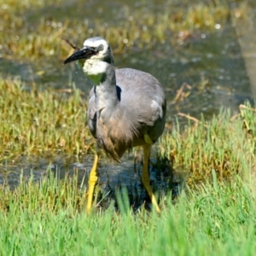
[[[102,3],[102,2],[101,2]],[[101,13],[101,18],[108,19],[110,16],[115,22],[122,17],[107,15],[106,9],[102,8],[99,2],[91,3],[91,8]],[[135,3],[131,2],[125,8],[134,8]],[[119,4],[112,5],[114,9],[119,9]],[[157,4],[148,8],[160,11]],[[49,13],[52,10],[49,9]],[[67,11],[67,10],[66,10]],[[58,15],[65,15],[65,10],[59,10]],[[88,14],[90,15],[90,14]],[[31,17],[33,19],[33,16]],[[227,24],[225,27],[217,27],[215,32],[195,33],[188,39],[181,41],[181,44],[173,46],[171,44],[156,44],[152,49],[134,49],[124,55],[115,56],[116,67],[133,67],[152,73],[160,79],[164,85],[167,97],[167,119],[169,122],[175,118],[178,112],[189,113],[196,118],[204,113],[210,119],[213,113],[218,113],[219,108],[228,107],[236,111],[237,106],[245,100],[252,100],[252,91],[247,78],[245,63],[241,55],[241,49],[236,40],[234,28]],[[81,36],[81,34],[79,35]],[[182,36],[182,35],[181,35]],[[84,38],[79,40],[84,41]],[[9,61],[0,59],[0,68],[3,76],[19,76],[27,84],[33,82],[47,90],[49,87],[68,88],[76,84],[76,87],[88,94],[91,84],[84,77],[81,71],[73,66],[63,66],[58,58],[47,59],[45,61]],[[42,72],[43,71],[43,72]],[[180,102],[173,102],[177,90],[182,84],[189,86],[185,89],[189,96]],[[180,119],[182,123],[186,120]],[[60,177],[65,173],[73,175],[79,171],[79,180],[88,177],[92,166],[90,156],[76,159],[73,156],[59,156],[55,159],[20,158],[15,163],[3,163],[0,170],[0,184],[9,183],[12,187],[19,183],[20,170],[22,169],[26,177],[30,177],[31,172],[34,178],[47,175],[47,172],[57,172]],[[154,162],[153,157],[153,162]],[[138,164],[138,166],[140,166]],[[142,169],[141,166],[139,168]],[[157,168],[151,167],[151,179],[158,188],[170,185],[172,179],[172,168],[166,169],[164,174],[160,174]],[[115,186],[125,184],[141,191],[140,172],[134,172],[132,154],[123,157],[121,165],[113,163],[112,160],[103,159],[99,166],[100,183],[102,187],[113,189]],[[9,173],[7,175],[7,173]],[[7,178],[5,178],[7,177]],[[173,183],[178,183],[179,179],[174,177]],[[177,189],[177,185],[174,186]]]

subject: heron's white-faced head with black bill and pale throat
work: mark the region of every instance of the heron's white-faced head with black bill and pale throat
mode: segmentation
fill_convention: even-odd
[[[83,61],[84,73],[86,73],[95,84],[101,82],[109,65],[113,64],[113,55],[108,42],[100,37],[89,38],[84,41],[84,46],[69,56],[64,64],[72,61]]]

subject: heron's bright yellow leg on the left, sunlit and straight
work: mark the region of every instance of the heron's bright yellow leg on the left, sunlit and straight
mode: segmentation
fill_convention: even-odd
[[[93,166],[90,170],[90,176],[88,181],[89,189],[88,189],[88,198],[87,198],[87,207],[86,207],[86,212],[88,213],[90,212],[90,209],[92,206],[93,192],[94,192],[96,181],[98,180],[98,177],[97,177],[98,162],[99,162],[99,154],[96,153]]]

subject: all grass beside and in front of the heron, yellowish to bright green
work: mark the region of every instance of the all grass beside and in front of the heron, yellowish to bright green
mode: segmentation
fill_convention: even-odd
[[[79,90],[26,90],[18,80],[1,79],[0,157],[20,154],[86,154],[84,101]],[[3,255],[253,255],[256,222],[256,110],[222,110],[206,121],[190,120],[160,140],[160,155],[171,158],[187,180],[162,213],[132,212],[118,196],[114,207],[84,212],[77,177],[24,180],[0,188],[0,251]],[[21,171],[21,170],[20,170]],[[123,197],[122,197],[123,198]]]

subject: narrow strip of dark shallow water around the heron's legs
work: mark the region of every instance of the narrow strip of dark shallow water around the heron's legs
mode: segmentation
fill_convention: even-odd
[[[84,189],[88,183],[93,160],[94,156],[90,155],[82,158],[74,155],[59,155],[50,159],[20,157],[13,162],[6,162],[5,166],[0,166],[0,186],[15,189],[20,183],[20,170],[22,170],[22,181],[25,182],[31,179],[39,182],[42,178],[49,177],[51,172],[60,179],[76,177],[79,188]],[[107,208],[112,201],[115,201],[117,189],[125,188],[134,211],[143,205],[149,209],[151,201],[143,189],[141,160],[140,157],[135,167],[133,154],[125,154],[121,164],[102,157],[98,166],[98,184],[101,188],[98,197],[100,207]],[[151,186],[158,191],[161,198],[165,198],[165,195],[172,191],[172,199],[175,200],[180,190],[184,188],[183,174],[174,172],[169,161],[156,161],[153,158],[149,173]]]

